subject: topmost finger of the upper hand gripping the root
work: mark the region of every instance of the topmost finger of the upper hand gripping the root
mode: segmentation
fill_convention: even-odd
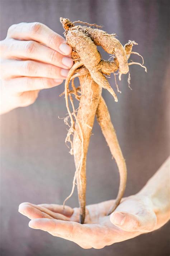
[[[72,51],[72,48],[66,44],[66,40],[62,36],[39,22],[14,24],[9,27],[7,37],[41,42],[64,55],[69,55]]]

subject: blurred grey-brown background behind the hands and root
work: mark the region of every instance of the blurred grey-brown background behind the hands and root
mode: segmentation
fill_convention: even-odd
[[[60,17],[72,21],[104,24],[124,45],[139,43],[134,51],[143,55],[148,73],[130,66],[118,82],[122,94],[115,103],[103,91],[128,167],[125,196],[138,192],[169,155],[168,0],[1,0],[0,39],[11,24],[42,22],[63,33]],[[101,52],[103,58],[108,55]],[[136,55],[134,61],[141,61]],[[115,88],[113,75],[110,84]],[[113,244],[101,250],[84,250],[76,244],[28,227],[18,213],[21,202],[60,203],[68,196],[75,167],[65,145],[65,99],[63,84],[40,92],[37,101],[1,116],[1,256],[169,255],[168,224],[155,232]],[[87,161],[87,203],[117,196],[119,175],[95,122]],[[160,181],[161,182],[161,181]],[[77,193],[67,202],[78,206]]]

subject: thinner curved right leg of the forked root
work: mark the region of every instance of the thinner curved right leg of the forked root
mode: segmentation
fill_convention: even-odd
[[[96,111],[96,117],[101,127],[101,131],[105,137],[105,140],[110,148],[110,152],[112,153],[112,156],[115,158],[115,161],[119,169],[119,175],[120,175],[120,185],[119,185],[118,196],[116,198],[116,201],[113,207],[108,212],[108,215],[109,215],[119,205],[123,197],[124,190],[126,188],[127,169],[126,169],[126,163],[123,158],[123,154],[119,146],[119,142],[118,142],[112,121],[110,119],[110,114],[109,114],[107,105],[102,97],[100,98],[100,101],[99,101],[99,105]]]

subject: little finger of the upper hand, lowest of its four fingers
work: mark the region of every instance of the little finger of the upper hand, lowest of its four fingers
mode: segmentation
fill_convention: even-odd
[[[52,79],[44,77],[16,77],[4,80],[4,89],[11,93],[21,93],[23,91],[42,90],[62,84],[62,79]]]

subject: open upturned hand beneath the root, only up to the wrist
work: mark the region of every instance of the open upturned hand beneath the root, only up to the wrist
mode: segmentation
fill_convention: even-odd
[[[114,200],[86,206],[85,224],[79,224],[79,208],[62,205],[22,203],[19,212],[31,221],[29,227],[77,243],[82,248],[100,249],[156,227],[152,202],[146,196],[123,198],[116,211],[106,216]],[[111,221],[110,221],[111,220]]]

